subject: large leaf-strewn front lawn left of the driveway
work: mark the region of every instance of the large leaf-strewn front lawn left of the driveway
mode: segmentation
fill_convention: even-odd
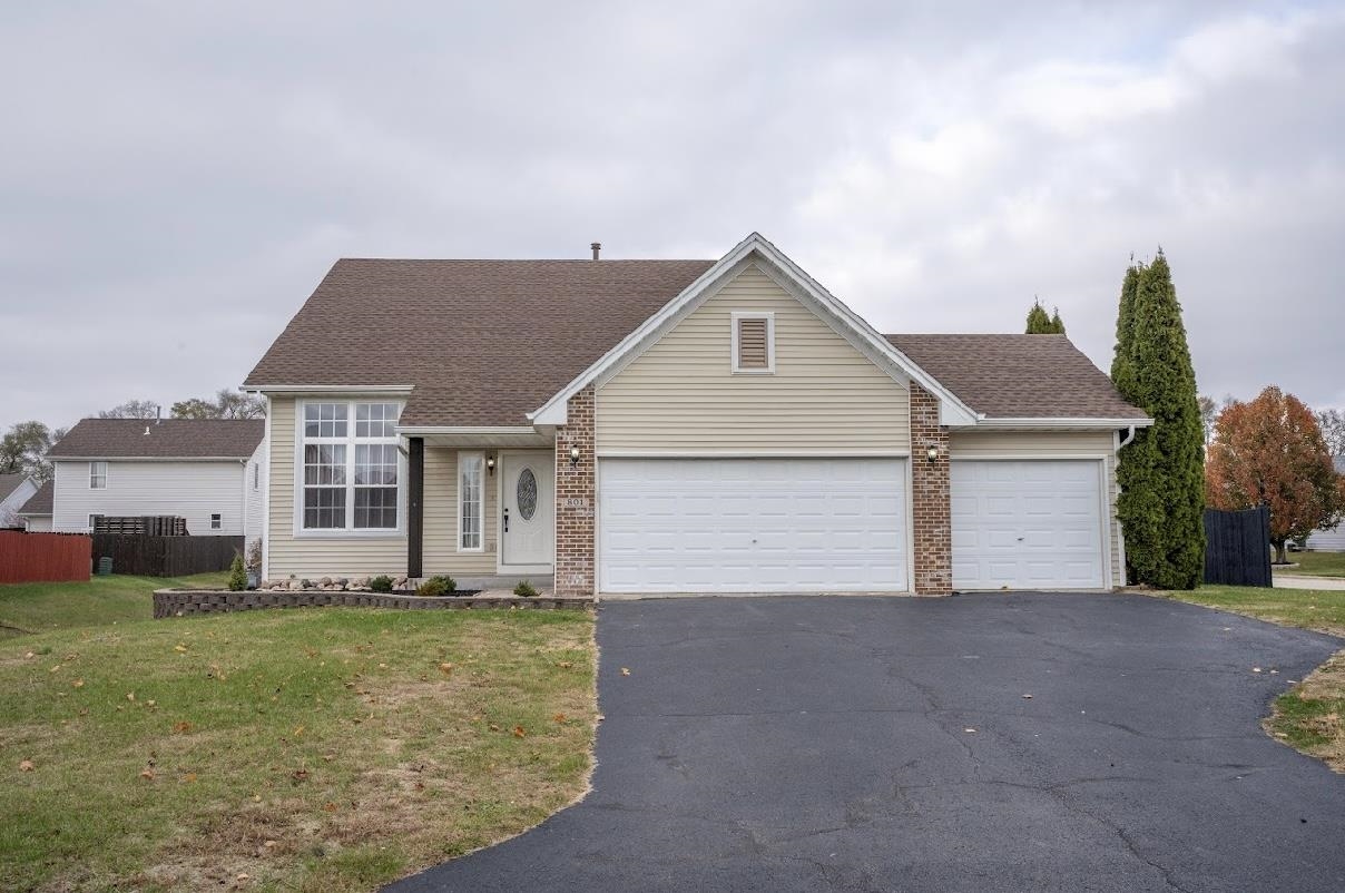
[[[114,581],[90,604],[144,616]],[[75,611],[46,601],[0,590],[13,625]],[[13,635],[0,889],[374,889],[580,796],[593,681],[593,617],[572,611],[288,609]]]

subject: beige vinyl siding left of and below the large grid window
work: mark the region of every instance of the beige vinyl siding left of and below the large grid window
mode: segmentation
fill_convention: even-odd
[[[406,535],[295,537],[295,398],[270,398],[270,543],[266,576],[406,573]]]

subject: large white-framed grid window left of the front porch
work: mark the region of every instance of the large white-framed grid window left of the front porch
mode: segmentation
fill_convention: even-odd
[[[304,403],[304,530],[397,530],[399,413],[398,403]]]

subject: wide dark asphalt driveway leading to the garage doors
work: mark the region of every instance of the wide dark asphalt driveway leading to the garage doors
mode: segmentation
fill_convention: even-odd
[[[1345,777],[1259,726],[1336,639],[991,594],[611,603],[599,644],[589,796],[390,889],[1345,889]]]

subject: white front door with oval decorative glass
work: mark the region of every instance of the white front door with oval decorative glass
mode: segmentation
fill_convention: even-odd
[[[549,452],[500,455],[500,569],[550,570],[555,553],[555,468]]]

